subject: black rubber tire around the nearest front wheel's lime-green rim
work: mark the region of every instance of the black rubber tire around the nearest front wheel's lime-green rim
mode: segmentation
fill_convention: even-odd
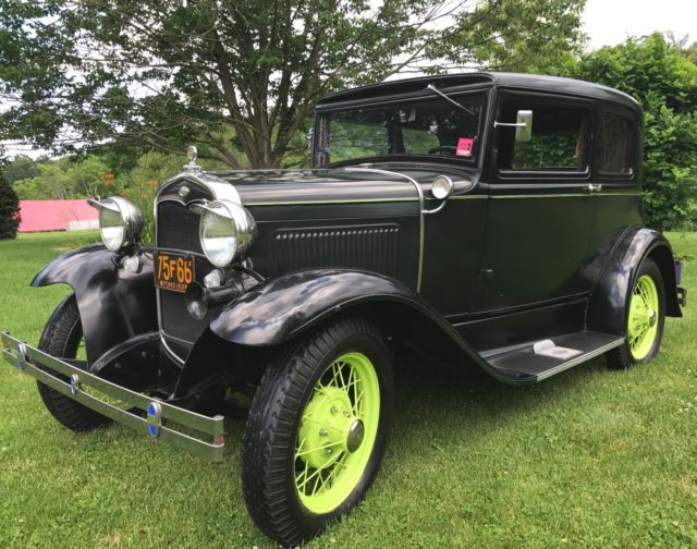
[[[350,496],[333,511],[316,514],[304,505],[295,487],[295,442],[315,383],[337,357],[347,352],[363,353],[377,374],[380,388],[377,436],[367,465]],[[279,353],[253,400],[242,449],[245,503],[265,534],[281,544],[297,545],[316,536],[365,497],[384,453],[393,392],[390,352],[378,328],[367,320],[339,319]]]

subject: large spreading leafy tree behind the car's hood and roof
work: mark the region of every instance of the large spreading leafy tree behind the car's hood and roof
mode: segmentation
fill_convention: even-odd
[[[519,69],[574,49],[584,4],[0,0],[0,138],[134,156],[194,142],[231,167],[278,167],[322,94],[415,66]]]

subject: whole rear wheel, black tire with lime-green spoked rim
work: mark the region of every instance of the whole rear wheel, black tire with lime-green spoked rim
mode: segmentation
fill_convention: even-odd
[[[649,362],[661,346],[665,322],[665,289],[661,270],[645,259],[634,282],[626,310],[626,340],[608,353],[608,366],[626,369]]]

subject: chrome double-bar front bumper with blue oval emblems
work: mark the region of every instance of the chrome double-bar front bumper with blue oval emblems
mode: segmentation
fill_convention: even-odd
[[[208,417],[131,391],[27,345],[8,332],[2,332],[2,355],[41,383],[139,435],[160,439],[207,461],[223,459],[223,416]],[[119,405],[86,392],[85,388],[119,401]],[[178,430],[174,424],[196,435]]]

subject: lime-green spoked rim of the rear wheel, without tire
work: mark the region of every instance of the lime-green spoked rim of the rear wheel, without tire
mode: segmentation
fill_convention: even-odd
[[[658,334],[658,318],[659,300],[656,282],[648,274],[643,274],[634,286],[627,319],[629,351],[635,361],[646,358],[653,349]]]

